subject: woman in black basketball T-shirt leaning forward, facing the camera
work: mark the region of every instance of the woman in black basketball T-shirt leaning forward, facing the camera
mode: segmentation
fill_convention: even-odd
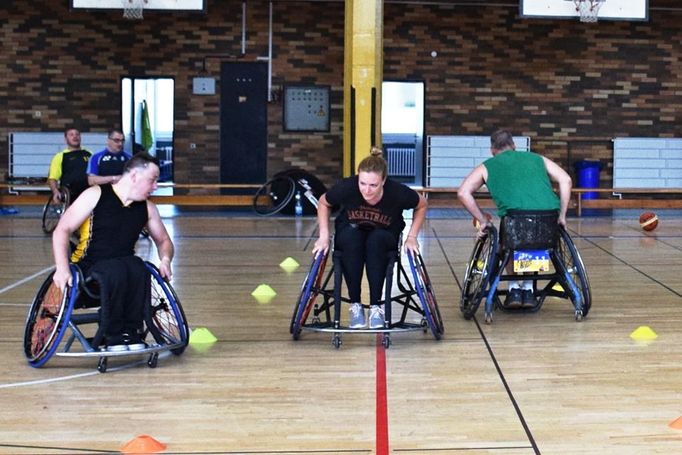
[[[403,210],[414,209],[412,226],[405,248],[417,252],[417,234],[426,217],[427,203],[411,188],[386,178],[388,166],[382,151],[372,148],[371,155],[358,165],[358,174],[343,179],[320,197],[317,222],[320,238],[313,254],[329,248],[329,215],[333,206],[340,206],[335,220],[334,248],[341,251],[343,276],[351,302],[351,328],[366,325],[365,311],[360,303],[363,268],[367,268],[370,289],[371,329],[384,327],[384,308],[379,305],[388,266],[388,253],[397,251],[398,239],[405,228]]]

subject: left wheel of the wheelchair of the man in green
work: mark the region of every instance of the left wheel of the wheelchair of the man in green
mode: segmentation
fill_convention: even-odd
[[[464,319],[471,319],[476,314],[481,300],[485,298],[495,269],[496,258],[497,229],[488,225],[485,229],[485,236],[476,240],[464,274],[462,297],[459,303]]]

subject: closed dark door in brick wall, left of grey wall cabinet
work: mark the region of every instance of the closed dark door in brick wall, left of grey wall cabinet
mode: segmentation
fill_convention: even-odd
[[[220,183],[264,183],[267,64],[225,62],[220,86]]]

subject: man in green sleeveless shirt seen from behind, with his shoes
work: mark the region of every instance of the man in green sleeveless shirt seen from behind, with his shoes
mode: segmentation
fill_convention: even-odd
[[[497,130],[490,136],[493,157],[476,167],[464,179],[457,197],[478,220],[479,236],[490,223],[474,199],[474,193],[484,184],[504,217],[509,210],[558,210],[559,224],[566,226],[566,211],[571,197],[571,177],[554,161],[530,151],[516,151],[509,131]],[[550,179],[559,186],[557,197]],[[510,281],[505,306],[532,307],[533,282]]]

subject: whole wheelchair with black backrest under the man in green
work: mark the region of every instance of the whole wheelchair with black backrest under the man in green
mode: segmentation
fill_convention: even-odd
[[[490,324],[494,309],[532,313],[540,310],[547,297],[570,299],[576,321],[587,316],[592,295],[585,265],[557,219],[556,211],[510,211],[500,223],[499,237],[495,226],[485,228],[464,275],[460,310],[465,319],[474,316],[482,300],[485,322]],[[513,273],[506,271],[510,262]],[[532,306],[505,307],[501,298],[509,291],[498,286],[512,280],[533,281]]]

